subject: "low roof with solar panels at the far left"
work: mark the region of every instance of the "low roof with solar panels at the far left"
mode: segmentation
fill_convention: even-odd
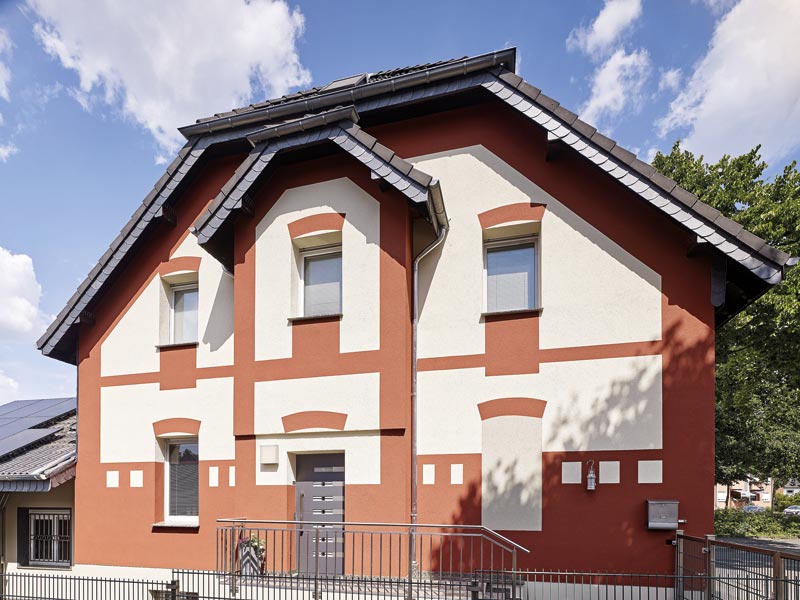
[[[0,406],[0,493],[47,492],[75,476],[75,398]]]

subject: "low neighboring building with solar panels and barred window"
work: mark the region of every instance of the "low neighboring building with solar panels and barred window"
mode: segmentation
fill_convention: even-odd
[[[75,398],[0,406],[2,570],[72,565]]]

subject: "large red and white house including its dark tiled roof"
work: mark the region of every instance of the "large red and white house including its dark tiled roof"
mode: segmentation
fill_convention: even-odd
[[[713,531],[715,330],[794,261],[514,65],[181,129],[39,341],[78,366],[76,572],[214,568],[217,519],[308,519],[320,473],[331,518],[416,504],[531,548],[520,566],[666,572],[648,499]]]

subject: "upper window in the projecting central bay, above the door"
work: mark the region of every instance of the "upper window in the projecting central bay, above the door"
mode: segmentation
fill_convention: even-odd
[[[342,312],[341,246],[303,251],[303,316]]]

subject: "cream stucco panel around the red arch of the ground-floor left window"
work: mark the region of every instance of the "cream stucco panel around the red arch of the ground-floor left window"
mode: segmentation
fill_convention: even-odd
[[[162,461],[153,423],[182,417],[201,421],[201,460],[232,460],[233,379],[200,379],[196,388],[159,390],[157,383],[102,388],[100,462]]]

